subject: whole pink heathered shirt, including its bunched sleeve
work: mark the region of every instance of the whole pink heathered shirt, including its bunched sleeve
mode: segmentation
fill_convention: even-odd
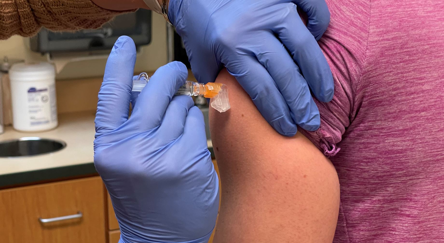
[[[327,3],[335,94],[300,131],[339,176],[333,242],[444,242],[444,1]]]

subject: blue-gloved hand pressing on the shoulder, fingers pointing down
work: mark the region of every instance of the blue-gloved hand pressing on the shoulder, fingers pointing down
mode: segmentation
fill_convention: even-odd
[[[199,82],[214,82],[225,66],[282,135],[319,127],[310,89],[328,102],[334,88],[316,42],[330,21],[325,0],[170,0],[168,17]]]

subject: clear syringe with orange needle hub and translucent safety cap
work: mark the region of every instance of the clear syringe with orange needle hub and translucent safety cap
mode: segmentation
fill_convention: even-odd
[[[139,76],[133,80],[132,91],[141,92],[150,80],[150,77],[146,72],[142,72]],[[228,88],[226,84],[220,83],[197,83],[192,81],[186,81],[185,84],[180,86],[176,95],[187,96],[203,96],[205,98],[213,98],[210,101],[210,106],[216,109],[218,112],[226,112],[230,109],[230,103],[228,101]]]

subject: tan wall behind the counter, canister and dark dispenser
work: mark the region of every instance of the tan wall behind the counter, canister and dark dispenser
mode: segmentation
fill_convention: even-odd
[[[154,72],[166,64],[166,21],[162,15],[153,13],[151,44],[140,48],[135,65],[135,73]],[[0,58],[24,59],[28,61],[47,61],[46,56],[32,52],[29,38],[12,36],[0,40]],[[94,111],[97,106],[97,93],[102,83],[106,58],[84,60],[67,64],[57,75],[58,113]],[[5,111],[11,108],[5,104]]]

